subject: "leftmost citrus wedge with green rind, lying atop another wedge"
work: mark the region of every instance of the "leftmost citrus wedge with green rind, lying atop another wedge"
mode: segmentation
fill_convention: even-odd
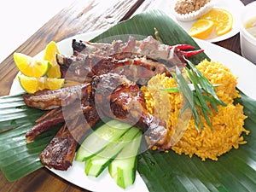
[[[42,77],[52,66],[49,61],[34,59],[22,53],[14,53],[14,61],[20,72],[28,77]]]

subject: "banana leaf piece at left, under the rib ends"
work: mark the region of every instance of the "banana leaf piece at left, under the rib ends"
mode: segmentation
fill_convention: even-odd
[[[0,97],[0,169],[9,181],[43,167],[39,154],[55,136],[58,127],[44,132],[26,144],[26,131],[34,125],[41,110],[29,108],[22,95]]]

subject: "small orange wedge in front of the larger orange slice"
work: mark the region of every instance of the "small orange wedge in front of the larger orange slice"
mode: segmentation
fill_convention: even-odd
[[[212,33],[214,22],[212,20],[196,20],[189,30],[189,35],[194,38],[205,39]]]

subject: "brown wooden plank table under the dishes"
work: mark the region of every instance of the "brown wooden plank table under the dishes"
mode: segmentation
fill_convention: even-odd
[[[50,40],[55,42],[73,35],[91,32],[97,29],[107,29],[121,20],[129,19],[136,11],[151,9],[158,0],[75,0],[66,9],[55,15],[42,28],[21,44],[16,52],[26,55],[36,55],[45,48]],[[241,0],[247,4],[253,0]],[[136,13],[137,13],[136,12]],[[241,55],[239,34],[215,43]],[[0,96],[9,95],[10,87],[18,73],[12,55],[0,64]],[[9,183],[0,172],[0,191],[88,191],[61,177],[57,177],[46,168],[32,172],[14,183]]]

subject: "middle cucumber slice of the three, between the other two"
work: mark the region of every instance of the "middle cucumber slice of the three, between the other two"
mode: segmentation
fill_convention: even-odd
[[[98,177],[102,171],[111,163],[111,161],[119,154],[119,152],[128,145],[139,130],[131,127],[117,142],[110,143],[99,154],[85,161],[85,174]]]

